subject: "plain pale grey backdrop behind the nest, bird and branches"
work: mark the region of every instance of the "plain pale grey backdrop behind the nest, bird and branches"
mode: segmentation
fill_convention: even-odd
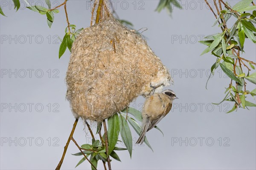
[[[0,2],[8,16],[0,16],[0,168],[55,169],[75,120],[69,103],[65,100],[64,78],[70,52],[66,51],[58,59],[60,41],[54,41],[57,39],[55,35],[61,38],[64,36],[67,25],[64,8],[61,7],[60,13],[55,14],[55,21],[49,29],[46,16],[24,10],[25,3],[15,12],[11,1]],[[32,5],[38,3],[29,2]],[[70,23],[76,24],[77,28],[90,26],[91,13],[90,7],[86,9],[87,2],[67,2]],[[231,4],[236,2],[238,1],[230,1]],[[56,6],[62,1],[52,3]],[[116,3],[116,12],[121,19],[131,21],[137,30],[143,27],[148,29],[143,35],[147,37],[148,45],[172,72],[175,84],[170,88],[179,99],[175,101],[169,115],[158,124],[164,137],[155,129],[147,133],[154,152],[147,146],[134,145],[130,158],[127,151],[118,151],[122,162],[112,161],[113,169],[256,169],[256,109],[239,109],[226,114],[233,104],[211,104],[222,100],[224,87],[230,82],[220,69],[210,79],[208,90],[205,89],[207,75],[215,57],[210,54],[199,56],[206,46],[197,41],[200,37],[220,32],[218,26],[212,27],[215,18],[206,8],[206,3],[203,0],[182,0],[183,10],[175,8],[172,17],[166,11],[160,14],[154,12],[158,0]],[[135,3],[137,6],[134,9]],[[129,5],[127,9],[126,4]],[[141,5],[142,9],[139,9]],[[29,37],[32,37],[31,42]],[[246,40],[245,47],[244,58],[255,61],[255,44]],[[15,74],[9,75],[15,69],[16,78]],[[23,69],[26,70],[25,76]],[[33,69],[31,77],[28,69]],[[3,74],[6,71],[7,75]],[[44,75],[38,78],[41,72]],[[255,85],[247,85],[247,89],[254,88]],[[141,109],[143,101],[139,97],[131,106]],[[250,98],[250,101],[253,99]],[[6,104],[8,107],[3,107]],[[29,104],[32,106],[31,110]],[[41,109],[40,106],[44,108]],[[58,108],[54,110],[56,106]],[[87,133],[88,130],[84,130],[83,123],[79,121],[74,134],[76,141],[79,144],[90,141]],[[138,135],[133,130],[132,135],[135,143]],[[174,142],[176,140],[177,143]],[[180,143],[181,140],[185,142]],[[71,142],[62,169],[75,169],[82,157],[72,156],[71,153],[77,152],[79,150]],[[103,168],[100,162],[98,167]],[[90,169],[90,166],[86,162],[76,169]]]

